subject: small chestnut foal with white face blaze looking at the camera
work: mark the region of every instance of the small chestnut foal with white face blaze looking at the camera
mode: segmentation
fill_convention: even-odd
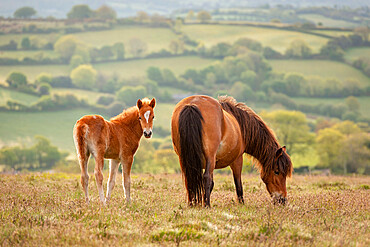
[[[87,162],[90,154],[95,158],[95,178],[100,201],[105,205],[109,201],[116,182],[119,163],[122,164],[122,185],[126,201],[130,202],[130,172],[134,154],[139,146],[141,137],[152,136],[155,99],[138,100],[133,106],[110,121],[103,117],[84,116],[74,126],[73,139],[75,142],[78,161],[81,167],[81,184],[85,192],[86,202],[89,202]],[[107,197],[104,200],[103,167],[104,158],[110,159]]]

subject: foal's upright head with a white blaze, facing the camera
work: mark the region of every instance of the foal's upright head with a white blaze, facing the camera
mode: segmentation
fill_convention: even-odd
[[[137,101],[137,108],[139,109],[139,121],[145,138],[150,138],[153,133],[153,119],[155,106],[155,98],[149,100],[147,98]]]

